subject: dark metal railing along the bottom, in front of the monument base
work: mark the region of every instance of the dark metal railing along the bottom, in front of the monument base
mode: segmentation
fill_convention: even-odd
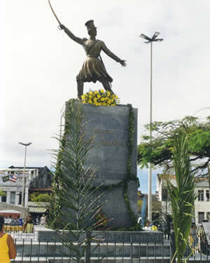
[[[69,263],[71,251],[60,242],[38,241],[38,233],[24,233],[20,229],[7,228],[14,238],[17,257],[11,262],[48,262]],[[173,234],[160,243],[154,242],[90,242],[83,262],[111,263],[169,263],[175,252]],[[195,226],[190,231],[185,257],[187,262],[210,263],[210,246],[202,226]],[[175,261],[174,261],[175,262]]]

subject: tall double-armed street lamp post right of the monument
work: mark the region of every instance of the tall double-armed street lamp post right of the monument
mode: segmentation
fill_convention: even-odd
[[[152,141],[152,128],[151,123],[153,122],[153,42],[163,41],[163,39],[157,39],[159,32],[155,32],[153,37],[150,38],[145,34],[140,36],[147,41],[144,43],[151,43],[151,83],[150,83],[150,142]],[[148,220],[152,220],[152,168],[151,163],[148,163]]]

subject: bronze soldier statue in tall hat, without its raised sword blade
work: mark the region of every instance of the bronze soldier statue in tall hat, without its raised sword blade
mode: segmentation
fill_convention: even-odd
[[[58,20],[59,21],[59,20]],[[84,82],[94,82],[99,81],[104,86],[105,90],[111,90],[111,82],[113,79],[106,72],[106,68],[100,56],[100,52],[103,50],[106,55],[109,55],[116,62],[120,62],[120,64],[125,67],[125,60],[120,60],[114,53],[112,53],[105,45],[104,41],[100,41],[96,39],[97,36],[97,27],[94,26],[94,21],[89,20],[85,23],[87,27],[87,32],[90,35],[89,39],[80,39],[71,31],[66,28],[64,25],[59,24],[61,29],[64,29],[64,32],[73,40],[83,46],[85,49],[85,53],[87,58],[83,63],[82,69],[80,69],[79,74],[76,76],[77,88],[78,88],[78,98],[81,98],[83,95],[83,87]]]

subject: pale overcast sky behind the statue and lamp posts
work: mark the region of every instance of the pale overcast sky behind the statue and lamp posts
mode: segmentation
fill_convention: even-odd
[[[87,37],[85,22],[93,19],[97,39],[127,67],[102,53],[113,91],[122,104],[138,109],[138,143],[149,122],[150,46],[140,34],[160,32],[153,45],[153,121],[210,115],[209,0],[51,0],[73,34]],[[82,46],[57,28],[47,0],[0,2],[0,168],[51,167],[53,139],[59,134],[64,102],[75,98],[76,75],[83,65]],[[85,83],[85,92],[102,88]],[[140,190],[147,191],[147,170],[138,168]],[[156,174],[153,171],[152,189]]]

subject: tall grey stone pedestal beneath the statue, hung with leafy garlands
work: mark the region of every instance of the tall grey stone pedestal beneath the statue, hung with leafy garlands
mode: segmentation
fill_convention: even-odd
[[[66,104],[67,106],[67,104]],[[127,176],[129,107],[96,107],[84,104],[85,130],[88,137],[94,135],[94,147],[90,150],[85,168],[90,165],[96,169],[94,185],[118,184]],[[132,153],[132,174],[137,176],[137,109],[134,112],[134,149]],[[134,215],[137,216],[137,191],[135,181],[128,183],[127,194]],[[106,204],[102,209],[112,229],[131,227],[132,220],[127,211],[123,187],[104,190]]]

